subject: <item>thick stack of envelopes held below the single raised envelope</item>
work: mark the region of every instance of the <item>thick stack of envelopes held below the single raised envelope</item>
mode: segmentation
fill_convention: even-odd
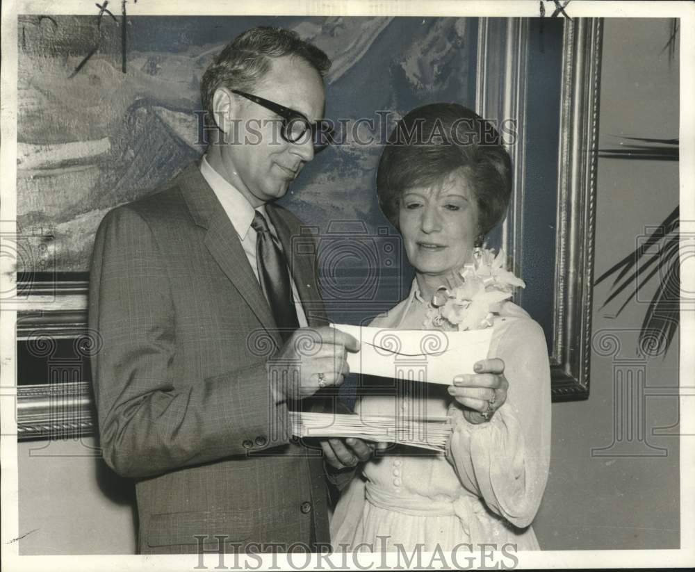
[[[405,418],[290,411],[297,437],[356,437],[444,452],[451,436],[448,417]]]

